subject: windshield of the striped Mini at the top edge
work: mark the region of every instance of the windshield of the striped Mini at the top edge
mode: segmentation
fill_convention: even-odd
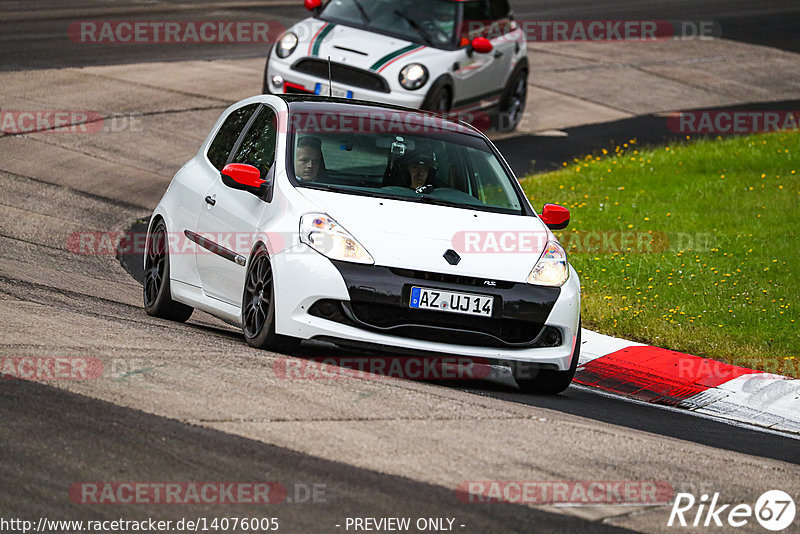
[[[457,7],[453,0],[332,0],[321,18],[441,47],[455,41]]]

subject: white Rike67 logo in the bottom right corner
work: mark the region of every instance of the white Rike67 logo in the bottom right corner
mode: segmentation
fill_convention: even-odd
[[[681,527],[743,527],[754,517],[767,530],[778,532],[794,522],[795,504],[792,497],[781,490],[764,492],[755,506],[749,504],[721,504],[719,493],[709,498],[703,494],[696,499],[691,493],[678,493],[672,505],[667,526]]]

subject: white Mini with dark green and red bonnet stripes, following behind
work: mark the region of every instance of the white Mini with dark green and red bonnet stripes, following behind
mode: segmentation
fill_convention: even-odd
[[[314,16],[289,28],[272,47],[264,93],[332,91],[337,97],[473,116],[469,122],[481,128],[517,127],[527,98],[528,58],[508,0],[329,0],[324,6],[306,0],[305,5]]]

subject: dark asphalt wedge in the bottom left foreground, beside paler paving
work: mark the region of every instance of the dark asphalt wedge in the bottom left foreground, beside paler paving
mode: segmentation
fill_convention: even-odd
[[[277,515],[289,532],[332,532],[348,516],[457,517],[474,532],[629,532],[610,526],[504,504],[488,510],[463,503],[453,492],[397,476],[320,460],[280,447],[216,432],[31,382],[5,385],[0,395],[0,439],[4,444],[3,517],[85,518],[64,499],[75,481],[139,477],[148,480],[251,480],[268,477],[287,489],[287,501],[261,515]],[[8,447],[8,448],[6,448]],[[55,458],[54,458],[55,457]],[[14,462],[9,462],[14,458]],[[57,461],[53,461],[57,459]],[[305,498],[306,481],[324,485],[316,502]],[[26,482],[27,481],[27,482]],[[26,486],[40,486],[31,502]],[[300,489],[300,488],[303,489]],[[295,500],[295,502],[292,502]],[[105,506],[92,519],[212,517],[213,506]],[[230,516],[249,516],[242,505]]]

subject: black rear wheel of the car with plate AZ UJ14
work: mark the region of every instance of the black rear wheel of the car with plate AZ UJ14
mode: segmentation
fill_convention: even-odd
[[[172,300],[169,286],[169,246],[167,226],[158,221],[150,233],[144,266],[144,310],[147,315],[185,322],[194,308]]]

